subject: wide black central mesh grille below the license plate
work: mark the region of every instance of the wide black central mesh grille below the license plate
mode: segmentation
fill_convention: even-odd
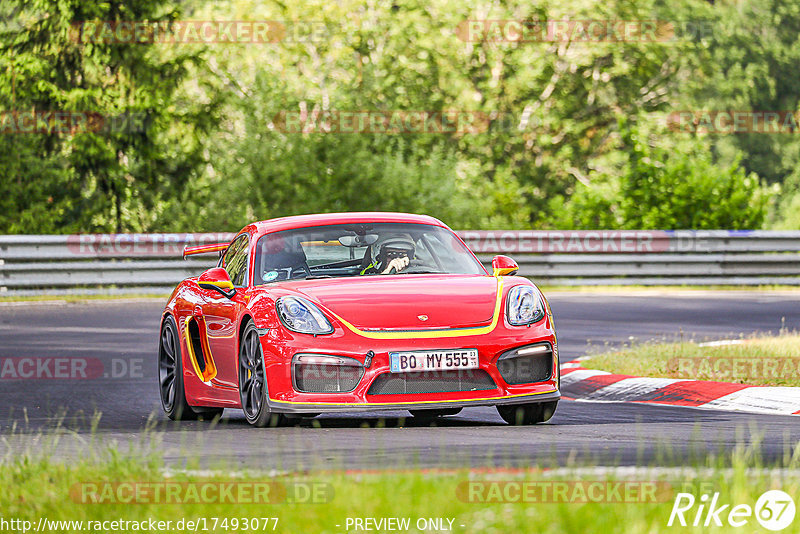
[[[403,393],[449,393],[497,389],[483,369],[462,371],[423,371],[419,373],[384,373],[372,382],[367,395]]]

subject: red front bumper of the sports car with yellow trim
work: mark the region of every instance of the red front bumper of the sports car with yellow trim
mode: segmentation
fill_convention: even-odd
[[[500,324],[490,334],[441,339],[365,339],[336,329],[325,336],[295,334],[283,328],[270,329],[261,338],[271,411],[278,413],[342,413],[374,410],[418,410],[528,404],[557,401],[560,398],[558,345],[550,318],[531,327]],[[509,349],[535,343],[553,347],[552,370],[546,380],[529,384],[509,384],[497,367],[498,358]],[[479,369],[494,382],[493,389],[446,391],[437,393],[371,394],[370,386],[391,372],[390,352],[419,350],[457,350],[475,348]],[[357,386],[346,393],[304,393],[295,389],[292,358],[296,354],[334,355],[364,363],[371,362]]]

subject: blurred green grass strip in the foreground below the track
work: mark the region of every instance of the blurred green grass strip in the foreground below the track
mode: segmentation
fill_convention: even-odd
[[[757,445],[756,445],[757,448]],[[231,531],[232,519],[239,520],[239,531],[245,518],[278,518],[276,532],[345,532],[347,518],[410,518],[412,525],[419,518],[453,519],[453,532],[465,533],[648,533],[667,529],[667,521],[678,492],[688,492],[696,498],[703,493],[719,492],[720,504],[748,504],[754,506],[757,498],[769,489],[781,489],[792,496],[800,496],[798,467],[800,450],[787,450],[780,465],[789,468],[771,472],[760,463],[756,449],[739,448],[716,459],[708,459],[695,467],[658,471],[647,469],[624,474],[614,470],[597,473],[579,466],[557,470],[531,466],[528,469],[498,470],[434,470],[419,469],[372,472],[321,472],[288,475],[226,473],[224,470],[208,475],[187,472],[171,474],[165,478],[161,459],[157,455],[123,454],[108,450],[71,462],[57,462],[47,454],[28,453],[6,457],[0,462],[0,516],[16,518],[38,524],[39,518],[50,521],[142,521],[206,518],[206,527],[217,519],[216,531]],[[731,467],[726,467],[731,466]],[[624,477],[624,478],[621,478]],[[271,487],[315,487],[320,502],[316,503],[260,503],[218,504],[188,503],[83,503],[83,484],[103,487],[103,483],[159,483],[176,482],[184,486],[203,487],[207,483],[257,483]],[[470,502],[467,484],[511,482],[513,484],[538,483],[572,484],[561,495],[559,502]],[[575,481],[578,481],[577,484]],[[588,487],[590,482],[627,481],[634,487],[639,483],[658,482],[654,500],[648,502],[584,502],[576,487]],[[581,485],[583,484],[583,485]],[[489,486],[491,487],[491,486]],[[506,485],[494,487],[509,487]],[[554,487],[554,486],[551,486]],[[184,494],[188,495],[188,493]],[[487,490],[474,495],[485,497]],[[540,495],[540,494],[539,494]],[[512,495],[513,497],[513,495]],[[515,499],[515,497],[514,497]],[[512,499],[513,500],[513,499]],[[551,499],[552,500],[552,499]],[[698,501],[699,502],[699,501]],[[730,507],[729,507],[730,509]],[[697,506],[686,517],[691,522]],[[723,520],[725,515],[722,516]],[[228,519],[228,529],[220,521]],[[800,521],[800,518],[796,520]],[[174,523],[173,523],[174,525]],[[337,526],[339,525],[339,526]],[[463,525],[463,526],[461,526]],[[756,519],[751,517],[749,528],[734,529],[728,526],[715,532],[752,532],[758,530]],[[271,532],[272,523],[267,531]],[[680,531],[701,532],[703,527]],[[66,531],[75,530],[66,529]],[[174,531],[174,526],[171,531]],[[202,528],[200,528],[202,531]],[[264,531],[259,527],[258,531]],[[354,529],[350,529],[354,531]],[[411,532],[416,532],[412,527]],[[788,530],[788,531],[791,531]]]

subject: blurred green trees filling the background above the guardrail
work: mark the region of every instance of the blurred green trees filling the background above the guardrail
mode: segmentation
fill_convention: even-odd
[[[233,231],[320,211],[454,228],[800,228],[793,134],[667,127],[798,111],[789,0],[7,0],[0,109],[146,127],[0,135],[0,232]],[[467,20],[659,20],[665,41],[468,40]],[[283,21],[263,44],[82,43],[78,21]],[[312,24],[313,23],[313,24]],[[315,28],[315,29],[311,29]],[[466,110],[480,133],[289,133],[281,112]]]

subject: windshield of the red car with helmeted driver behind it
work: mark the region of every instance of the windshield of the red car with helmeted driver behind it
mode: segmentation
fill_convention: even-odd
[[[336,224],[261,236],[254,284],[282,280],[415,274],[486,274],[446,228],[428,224]]]

